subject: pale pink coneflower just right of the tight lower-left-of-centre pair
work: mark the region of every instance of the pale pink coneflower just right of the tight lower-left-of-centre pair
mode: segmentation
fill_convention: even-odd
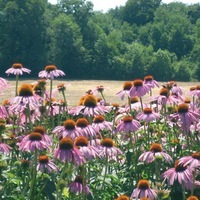
[[[105,138],[101,140],[99,152],[100,157],[108,158],[108,161],[118,161],[118,157],[122,155],[122,151],[115,147],[115,143],[111,138]]]

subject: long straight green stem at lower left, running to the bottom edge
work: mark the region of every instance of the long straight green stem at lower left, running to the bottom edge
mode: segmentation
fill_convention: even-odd
[[[37,156],[38,151],[35,149],[34,156],[33,156],[33,167],[31,171],[31,184],[30,184],[30,193],[29,199],[32,200],[35,196],[35,186],[36,186],[36,176],[37,176]]]

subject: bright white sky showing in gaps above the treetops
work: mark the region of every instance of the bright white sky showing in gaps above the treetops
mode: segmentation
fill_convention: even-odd
[[[57,0],[48,0],[52,4],[56,4]],[[94,4],[95,11],[106,12],[110,8],[115,8],[116,6],[124,6],[127,0],[90,0]],[[182,2],[185,4],[200,3],[200,0],[162,0],[163,3],[171,2]]]

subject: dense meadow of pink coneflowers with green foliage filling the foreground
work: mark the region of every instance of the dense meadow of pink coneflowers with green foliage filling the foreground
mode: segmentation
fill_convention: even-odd
[[[121,104],[108,102],[100,85],[72,106],[66,85],[53,87],[65,77],[55,65],[34,84],[20,84],[31,73],[20,63],[6,73],[16,86],[0,105],[1,199],[200,198],[200,85],[183,93],[149,75],[124,82]],[[8,87],[0,78],[0,93]]]

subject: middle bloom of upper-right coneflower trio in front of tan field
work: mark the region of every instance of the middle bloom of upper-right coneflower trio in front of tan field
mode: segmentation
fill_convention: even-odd
[[[147,94],[150,90],[151,90],[151,85],[144,84],[143,80],[141,79],[136,79],[133,81],[133,86],[129,91],[129,96],[130,97],[138,96],[139,98],[141,98],[142,96]]]

